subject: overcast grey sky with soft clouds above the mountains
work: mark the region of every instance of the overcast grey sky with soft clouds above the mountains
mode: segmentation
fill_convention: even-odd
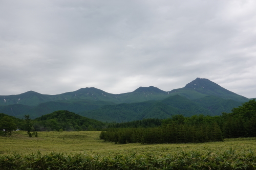
[[[0,95],[196,78],[256,98],[256,1],[0,1]]]

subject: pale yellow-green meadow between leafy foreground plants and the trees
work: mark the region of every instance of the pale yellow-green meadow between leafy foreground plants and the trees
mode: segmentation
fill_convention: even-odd
[[[224,142],[186,144],[115,144],[99,139],[99,131],[84,132],[38,132],[38,137],[30,138],[25,131],[14,131],[11,137],[0,137],[0,154],[23,153],[88,153],[126,154],[137,152],[155,155],[172,154],[181,151],[206,153],[223,152],[232,147],[236,152],[256,151],[256,138],[225,139]]]

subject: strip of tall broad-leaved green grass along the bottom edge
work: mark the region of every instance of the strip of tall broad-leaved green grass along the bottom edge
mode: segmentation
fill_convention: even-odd
[[[154,153],[87,155],[51,152],[13,153],[0,156],[0,169],[255,169],[256,154],[236,153],[230,148],[221,153],[182,151],[156,156]]]

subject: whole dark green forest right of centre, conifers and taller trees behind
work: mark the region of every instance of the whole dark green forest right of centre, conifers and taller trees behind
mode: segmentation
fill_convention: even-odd
[[[148,126],[147,126],[148,125]],[[188,143],[256,136],[256,102],[251,100],[221,116],[174,115],[110,126],[100,138],[116,143]]]

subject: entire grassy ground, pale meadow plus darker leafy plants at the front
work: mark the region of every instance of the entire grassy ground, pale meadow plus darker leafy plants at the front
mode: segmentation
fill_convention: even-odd
[[[256,138],[224,142],[114,144],[100,132],[25,131],[0,137],[0,169],[256,169]]]

